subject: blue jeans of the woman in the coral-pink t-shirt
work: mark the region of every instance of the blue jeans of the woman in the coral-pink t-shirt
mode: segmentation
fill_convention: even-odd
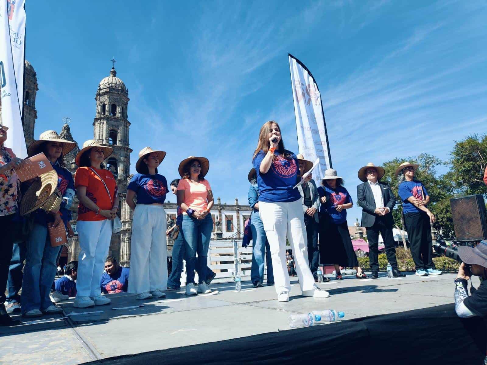
[[[208,255],[211,231],[213,230],[211,215],[208,214],[204,219],[196,219],[184,214],[182,230],[187,256],[186,282],[192,283],[194,281],[194,270],[196,270],[198,272],[198,284],[201,284],[206,278],[206,256]],[[196,258],[196,253],[198,253],[198,258]]]

